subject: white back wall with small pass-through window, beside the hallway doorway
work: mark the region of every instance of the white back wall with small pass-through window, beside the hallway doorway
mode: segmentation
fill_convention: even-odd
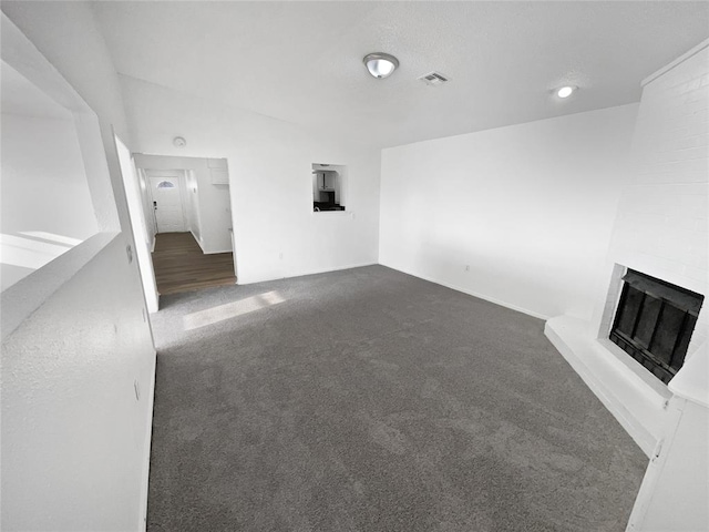
[[[239,283],[377,263],[378,151],[131,78],[121,81],[137,151],[227,158]],[[177,135],[186,147],[172,144]],[[312,213],[314,162],[348,166],[346,213]]]

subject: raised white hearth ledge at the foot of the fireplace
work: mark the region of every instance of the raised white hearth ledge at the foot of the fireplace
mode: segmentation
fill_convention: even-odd
[[[672,392],[610,340],[595,338],[589,321],[557,316],[544,332],[590,390],[643,449],[653,454],[665,430]]]

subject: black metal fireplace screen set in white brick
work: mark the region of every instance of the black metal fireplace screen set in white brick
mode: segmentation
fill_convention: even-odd
[[[610,340],[667,383],[685,362],[700,294],[628,269]]]

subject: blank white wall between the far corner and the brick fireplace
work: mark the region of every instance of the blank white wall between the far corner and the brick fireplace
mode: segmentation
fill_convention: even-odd
[[[384,150],[380,263],[588,319],[636,115],[631,104]]]

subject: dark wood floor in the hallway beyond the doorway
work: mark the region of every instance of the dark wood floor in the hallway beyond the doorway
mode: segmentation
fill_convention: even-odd
[[[155,238],[153,267],[158,294],[236,283],[232,253],[205,255],[192,233],[161,233]]]

